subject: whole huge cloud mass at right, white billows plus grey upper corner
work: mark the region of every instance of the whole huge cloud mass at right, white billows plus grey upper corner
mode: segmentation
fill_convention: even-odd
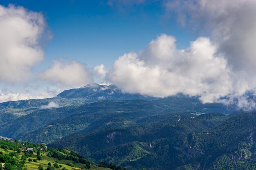
[[[166,0],[164,7],[201,37],[177,49],[175,38],[163,34],[145,50],[119,57],[107,78],[130,93],[184,93],[204,103],[255,108],[256,1]]]

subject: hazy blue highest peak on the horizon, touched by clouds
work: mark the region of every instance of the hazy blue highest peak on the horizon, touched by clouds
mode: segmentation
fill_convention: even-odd
[[[86,102],[96,102],[99,100],[135,100],[135,99],[155,99],[146,95],[124,93],[115,85],[88,84],[81,88],[65,90],[57,95],[58,97],[72,99],[83,98]]]

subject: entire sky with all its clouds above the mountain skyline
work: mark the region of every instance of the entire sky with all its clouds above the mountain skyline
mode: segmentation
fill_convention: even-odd
[[[255,108],[255,0],[0,0],[0,102],[88,83]]]

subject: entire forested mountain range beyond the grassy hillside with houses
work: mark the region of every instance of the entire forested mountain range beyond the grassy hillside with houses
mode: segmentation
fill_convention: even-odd
[[[130,170],[251,170],[255,115],[198,97],[154,98],[88,84],[49,99],[0,104],[0,135]]]

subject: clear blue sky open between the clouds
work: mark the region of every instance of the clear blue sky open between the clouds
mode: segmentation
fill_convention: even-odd
[[[166,18],[162,3],[111,7],[103,0],[1,0],[42,12],[53,38],[44,44],[45,61],[34,69],[42,71],[52,60],[65,57],[93,68],[113,62],[124,53],[144,49],[162,33],[175,35],[184,48],[195,40],[190,31]]]

